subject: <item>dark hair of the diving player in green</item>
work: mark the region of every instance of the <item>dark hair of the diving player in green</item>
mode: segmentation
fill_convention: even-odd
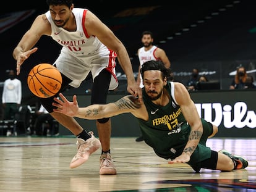
[[[153,60],[150,60],[150,61],[147,61],[145,63],[142,64],[142,68],[140,69],[140,73],[142,75],[142,79],[144,78],[144,72],[146,70],[160,70],[161,73],[162,73],[162,76],[163,76],[163,79],[166,77],[170,77],[171,76],[171,69],[167,69],[163,62],[158,60],[158,61],[153,61]]]

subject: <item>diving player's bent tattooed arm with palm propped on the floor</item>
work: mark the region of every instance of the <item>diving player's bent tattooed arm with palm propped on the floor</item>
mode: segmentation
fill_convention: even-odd
[[[181,83],[174,83],[174,96],[177,103],[181,106],[182,114],[189,123],[191,127],[189,140],[181,154],[181,156],[176,157],[173,161],[169,163],[183,163],[189,162],[190,156],[197,148],[197,144],[200,141],[200,138],[203,134],[203,125],[198,115],[197,109],[194,102],[190,98],[189,92],[186,90],[186,87]]]

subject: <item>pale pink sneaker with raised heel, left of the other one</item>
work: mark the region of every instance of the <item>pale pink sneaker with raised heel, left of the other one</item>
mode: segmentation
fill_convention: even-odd
[[[85,161],[88,160],[90,154],[92,154],[98,148],[100,148],[100,140],[93,136],[93,131],[88,132],[88,134],[91,135],[92,137],[86,141],[77,138],[78,151],[77,154],[75,154],[75,156],[73,157],[72,161],[70,162],[70,168],[75,168],[82,165]]]

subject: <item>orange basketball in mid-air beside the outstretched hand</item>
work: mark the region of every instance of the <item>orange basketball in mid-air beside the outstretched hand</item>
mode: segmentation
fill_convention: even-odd
[[[62,77],[51,64],[38,64],[28,73],[28,88],[39,98],[49,98],[61,89]]]

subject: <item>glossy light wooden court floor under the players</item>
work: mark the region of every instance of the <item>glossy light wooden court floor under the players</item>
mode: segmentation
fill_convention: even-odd
[[[256,140],[211,138],[208,146],[244,156],[249,167],[233,172],[168,162],[135,138],[112,138],[117,175],[99,175],[100,150],[75,169],[75,138],[0,137],[0,191],[256,191]]]

